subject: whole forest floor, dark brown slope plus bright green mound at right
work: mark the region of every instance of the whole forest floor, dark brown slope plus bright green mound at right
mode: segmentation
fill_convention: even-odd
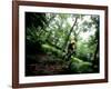
[[[26,56],[26,76],[52,76],[71,73],[92,73],[92,63],[71,57],[65,61],[63,57],[38,52]]]

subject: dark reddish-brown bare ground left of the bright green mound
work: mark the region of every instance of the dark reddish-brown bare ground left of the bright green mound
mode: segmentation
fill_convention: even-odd
[[[68,73],[67,62],[60,58],[56,58],[46,53],[39,53],[29,57],[33,62],[27,63],[27,76],[47,76],[47,75],[64,75]]]

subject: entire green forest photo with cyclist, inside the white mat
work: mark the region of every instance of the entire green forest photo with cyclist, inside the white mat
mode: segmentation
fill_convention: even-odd
[[[97,14],[26,12],[26,76],[99,72]]]

